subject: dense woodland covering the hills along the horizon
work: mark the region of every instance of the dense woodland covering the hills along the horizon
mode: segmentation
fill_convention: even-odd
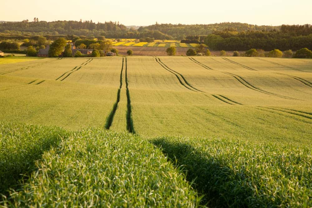
[[[212,50],[246,51],[251,48],[271,51],[312,49],[311,25],[257,26],[224,22],[209,25],[156,24],[127,28],[119,22],[91,21],[0,22],[0,40],[47,40],[63,37],[67,40],[94,38],[136,38],[140,40],[181,40],[185,43],[205,43]],[[102,40],[102,39],[99,39]]]

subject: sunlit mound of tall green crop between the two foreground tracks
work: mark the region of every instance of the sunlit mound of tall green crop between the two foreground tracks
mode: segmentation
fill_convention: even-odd
[[[12,131],[25,133],[24,129],[10,129],[5,136]],[[31,142],[27,135],[14,139]],[[197,204],[196,193],[162,152],[129,133],[112,133],[103,128],[71,133],[68,139],[45,152],[36,167],[37,171],[23,184],[22,190],[12,192],[8,201],[4,199],[5,206],[194,207]]]

